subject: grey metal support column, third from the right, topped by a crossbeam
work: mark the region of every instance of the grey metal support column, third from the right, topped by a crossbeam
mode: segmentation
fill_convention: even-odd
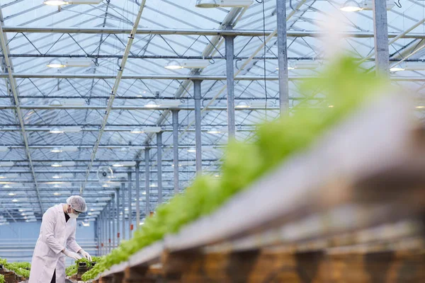
[[[229,139],[234,137],[234,37],[226,35],[226,77],[227,77],[227,125],[229,127]]]

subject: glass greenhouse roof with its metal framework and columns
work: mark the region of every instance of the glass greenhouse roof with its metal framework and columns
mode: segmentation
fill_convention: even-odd
[[[288,1],[263,0],[213,9],[169,0],[60,9],[33,2],[6,0],[0,6],[0,205],[5,209],[0,214],[8,221],[40,220],[47,207],[81,194],[93,209],[83,220],[97,220],[100,252],[107,253],[117,233],[131,236],[132,224],[137,228],[197,174],[219,176],[229,137],[251,140],[259,122],[281,112],[327,107],[320,93],[306,97],[299,91],[319,69],[288,70],[288,64],[324,62],[327,33],[319,23],[341,14],[343,1],[300,0],[292,8]],[[373,12],[344,13],[344,48],[368,71],[375,58],[385,74],[388,62],[425,65],[423,11],[422,4],[409,1],[390,11],[375,5]],[[376,33],[369,31],[374,19]],[[47,68],[52,59],[91,64]],[[198,59],[209,60],[209,66],[164,69],[171,60]],[[389,76],[419,95],[424,91],[424,71]],[[152,100],[158,105],[149,105]],[[419,96],[418,115],[424,115],[422,106]],[[50,133],[62,127],[81,128]],[[147,127],[159,132],[134,131]],[[67,161],[74,165],[52,167]],[[113,167],[118,185],[98,183],[98,167],[125,161],[135,166]],[[13,166],[1,165],[7,162]],[[116,188],[122,198],[114,202]],[[28,203],[39,207],[21,215]],[[111,225],[120,213],[123,225]]]

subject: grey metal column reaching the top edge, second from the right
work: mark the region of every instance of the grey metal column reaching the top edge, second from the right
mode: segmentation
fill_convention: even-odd
[[[288,47],[286,37],[286,0],[276,0],[276,13],[278,21],[278,75],[279,75],[279,100],[280,115],[289,109],[288,85]]]

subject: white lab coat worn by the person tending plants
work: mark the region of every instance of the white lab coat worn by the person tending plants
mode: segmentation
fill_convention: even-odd
[[[68,248],[77,253],[81,247],[75,241],[77,220],[65,221],[63,204],[47,209],[42,215],[40,236],[35,244],[28,283],[50,283],[56,269],[56,283],[65,282],[65,256]]]

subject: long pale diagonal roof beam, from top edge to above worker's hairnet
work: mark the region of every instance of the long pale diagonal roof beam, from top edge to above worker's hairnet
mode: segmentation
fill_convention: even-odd
[[[142,2],[140,3],[139,11],[138,11],[137,16],[134,20],[134,25],[133,25],[132,30],[130,32],[130,36],[128,37],[128,42],[127,42],[127,45],[125,46],[123,59],[121,60],[121,64],[120,64],[120,69],[118,70],[118,74],[116,76],[115,83],[114,83],[112,91],[111,91],[111,96],[108,100],[108,108],[106,108],[106,113],[105,113],[105,116],[103,116],[101,129],[98,132],[98,137],[96,139],[96,143],[94,144],[94,149],[91,152],[91,162],[89,163],[89,166],[87,167],[86,179],[89,178],[91,166],[93,166],[94,158],[96,158],[96,152],[97,152],[99,144],[101,143],[101,138],[102,138],[102,135],[103,135],[103,129],[106,127],[106,123],[108,122],[108,116],[109,116],[109,113],[111,112],[113,100],[115,99],[115,96],[118,92],[118,87],[120,86],[120,81],[121,81],[121,78],[123,76],[125,64],[127,62],[128,55],[130,54],[132,42],[135,39],[135,34],[136,34],[137,28],[139,26],[140,18],[142,17],[143,9],[145,8],[145,3],[146,3],[146,0],[142,0]],[[86,182],[84,182],[81,185],[80,195],[83,194],[85,186],[86,186]]]

